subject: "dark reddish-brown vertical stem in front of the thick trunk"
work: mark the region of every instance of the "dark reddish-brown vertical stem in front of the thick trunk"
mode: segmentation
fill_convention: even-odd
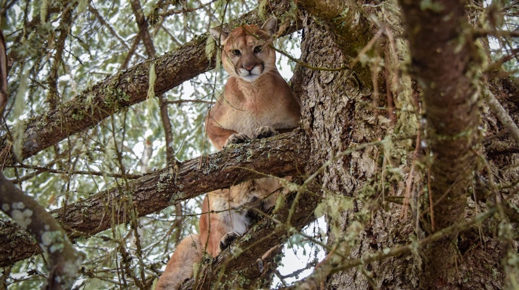
[[[424,7],[401,0],[413,75],[423,91],[425,140],[431,156],[429,209],[422,226],[428,233],[459,221],[474,176],[474,151],[480,139],[477,57],[466,33],[465,1],[435,1]],[[458,279],[455,244],[450,239],[425,249],[422,288],[450,287]]]

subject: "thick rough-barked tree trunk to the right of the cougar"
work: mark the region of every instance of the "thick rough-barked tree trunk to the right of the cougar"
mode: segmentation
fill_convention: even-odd
[[[448,3],[446,2],[446,4]],[[465,20],[463,17],[460,19]],[[425,18],[422,16],[422,19],[418,20],[424,21]],[[421,28],[423,29],[423,27]],[[436,25],[431,29],[438,30],[439,28]],[[410,29],[410,31],[416,31],[416,29]],[[343,62],[344,58],[338,51],[347,51],[347,49],[339,50],[335,47],[333,41],[335,38],[323,27],[316,24],[307,25],[304,28],[304,36],[302,61],[314,65]],[[426,44],[425,48],[419,48],[422,55],[417,56],[416,62],[421,60],[419,57],[430,59],[431,53],[428,53],[427,49],[436,49],[436,46],[433,46],[435,45],[434,40],[440,41],[438,38],[431,37],[431,32],[426,32],[424,37],[430,37],[431,43]],[[445,44],[448,40],[444,41],[440,41],[439,44]],[[448,45],[452,44],[448,43]],[[469,42],[467,47],[473,49],[471,45],[473,44]],[[412,49],[416,48],[412,47]],[[441,51],[445,52],[446,49],[442,48]],[[445,57],[442,59],[443,65],[438,65],[438,62],[435,64],[448,69],[449,65],[454,64],[456,56],[460,54],[460,47],[458,46],[456,49],[458,51],[454,50],[454,59]],[[458,96],[451,95],[442,101],[441,98],[433,99],[439,96],[446,97],[441,91],[429,93],[432,98],[425,101],[426,103],[429,101],[430,107],[436,107],[428,111],[427,122],[432,122],[432,125],[441,125],[442,122],[445,122],[449,126],[461,126],[454,130],[450,130],[454,127],[448,127],[450,131],[448,133],[443,131],[442,135],[450,134],[450,136],[459,137],[463,135],[463,132],[469,132],[469,134],[463,135],[465,137],[458,138],[459,140],[449,147],[446,147],[445,141],[450,142],[456,138],[434,139],[433,141],[440,141],[441,147],[434,147],[436,145],[431,142],[429,146],[432,148],[456,153],[448,155],[444,151],[435,151],[441,158],[440,162],[438,160],[428,161],[437,166],[432,169],[428,169],[427,166],[419,167],[420,164],[416,163],[420,160],[419,158],[421,158],[421,162],[427,160],[421,155],[419,144],[424,139],[424,135],[421,132],[420,139],[419,131],[429,130],[428,127],[417,128],[418,120],[421,118],[419,114],[397,111],[398,122],[392,124],[390,114],[372,106],[375,104],[389,107],[391,105],[388,104],[389,98],[370,98],[375,95],[369,95],[359,90],[357,83],[348,78],[348,71],[305,70],[302,74],[298,71],[296,83],[302,84],[298,94],[302,96],[303,100],[303,127],[307,130],[311,142],[312,154],[310,156],[316,157],[315,160],[312,160],[314,165],[319,166],[339,152],[352,148],[356,144],[386,138],[381,141],[382,146],[366,147],[354,151],[350,155],[335,160],[322,172],[320,182],[325,199],[330,200],[333,195],[342,195],[353,197],[354,200],[351,208],[344,212],[329,208],[329,212],[327,212],[327,222],[329,223],[327,252],[329,255],[320,262],[312,276],[302,282],[306,283],[306,286],[321,287],[322,289],[500,289],[503,287],[505,274],[503,273],[502,257],[516,251],[517,243],[511,239],[509,242],[503,242],[506,240],[496,237],[495,229],[498,227],[499,221],[486,220],[481,225],[463,226],[460,229],[449,231],[449,234],[438,235],[441,238],[435,242],[428,242],[424,247],[414,250],[411,250],[411,247],[399,255],[390,253],[390,249],[400,249],[399,247],[412,241],[432,237],[431,234],[435,231],[455,222],[471,221],[477,213],[487,209],[481,203],[476,204],[470,199],[470,194],[467,194],[473,189],[474,159],[478,156],[477,147],[474,147],[474,140],[477,139],[477,136],[474,137],[474,135],[479,134],[476,132],[479,118],[479,110],[476,105],[477,95],[474,95],[473,80],[470,79],[473,75],[465,74],[467,61],[473,61],[470,58],[472,53],[474,52],[470,50],[461,52],[461,56],[463,56],[461,62],[465,62],[465,64],[455,67],[458,69],[456,74],[459,72],[457,76],[447,77],[444,73],[439,74],[439,72],[434,72],[433,68],[429,68],[428,72],[436,75],[425,77],[446,77],[443,81],[437,80],[436,88],[433,85],[430,88],[438,89],[441,88],[441,85],[448,86],[449,84],[446,82],[448,80],[458,85],[454,94],[459,94]],[[388,54],[386,57],[389,57]],[[394,62],[394,60],[392,61]],[[420,64],[422,65],[420,68],[423,69],[424,63],[420,62]],[[478,64],[471,65],[477,67]],[[474,67],[469,68],[474,69]],[[383,77],[386,82],[389,82],[391,75],[386,72]],[[424,76],[421,77],[423,81]],[[458,80],[458,78],[465,78],[465,80]],[[409,80],[402,78],[401,81]],[[405,83],[403,84],[405,85]],[[407,84],[408,88],[403,89],[408,90],[407,92],[400,91],[400,94],[395,94],[395,105],[397,108],[414,107],[419,112],[420,108],[416,106],[417,100],[414,97],[418,96],[420,91],[417,90],[416,83],[412,85],[411,82],[408,82]],[[460,89],[462,86],[465,86],[465,89]],[[391,86],[386,88],[391,88]],[[411,90],[412,88],[413,90]],[[387,94],[388,92],[382,91],[382,93]],[[425,94],[427,97],[427,92]],[[503,93],[503,95],[509,96],[508,93]],[[434,101],[439,103],[434,105]],[[456,112],[456,106],[460,104],[467,107],[459,108],[460,111]],[[452,121],[456,118],[466,119],[465,121]],[[496,126],[497,121],[493,115],[487,113],[485,118],[485,120],[493,121],[491,124],[487,123],[487,127]],[[515,115],[513,119],[517,121],[517,116]],[[431,126],[431,124],[426,125]],[[501,128],[500,124],[498,127]],[[438,127],[431,130],[436,134],[442,132]],[[491,130],[487,136],[496,134],[498,130]],[[461,135],[456,136],[456,134]],[[431,136],[428,135],[428,137]],[[416,142],[419,143],[418,146]],[[453,149],[456,146],[458,146],[457,149]],[[467,158],[469,161],[465,162]],[[512,158],[499,160],[494,158],[490,162],[493,165],[495,161],[499,164],[496,164],[497,168],[510,167],[516,162]],[[443,166],[444,169],[438,169],[438,166]],[[430,200],[425,191],[431,186],[428,174],[430,178],[431,170],[432,172],[445,172],[445,166],[450,166],[447,168],[450,170],[448,174],[457,172],[455,176],[458,179],[459,172],[463,172],[465,176],[462,180],[465,181],[460,182],[456,178],[453,180],[452,176],[449,177],[450,180],[448,178],[439,180],[436,177],[432,181],[434,183],[432,188],[438,191],[438,195],[433,199],[433,205],[440,216],[439,224],[436,224],[435,229],[431,229]],[[484,164],[480,162],[479,167],[484,167]],[[400,175],[396,169],[401,170],[399,172],[402,174]],[[417,171],[419,171],[418,174],[416,174]],[[515,171],[515,169],[504,171],[504,179],[512,182],[514,180],[512,177],[516,178]],[[488,172],[483,172],[483,175],[486,176],[486,173]],[[414,178],[414,181],[410,179],[410,176]],[[486,183],[486,191],[490,186],[488,183]],[[442,197],[440,193],[447,192],[448,195],[449,186],[452,187],[452,184],[456,184],[456,187],[450,189],[452,190],[450,195],[454,194],[455,197],[437,201]],[[488,192],[478,194],[489,195]],[[402,198],[405,195],[409,197],[409,204],[404,202],[404,207],[402,207]],[[458,199],[458,201],[454,199]],[[384,204],[381,204],[381,201],[385,201]],[[468,202],[467,205],[466,202]],[[408,211],[409,205],[411,214],[406,214],[405,211]],[[487,219],[488,216],[490,215],[485,216],[484,219]],[[407,218],[403,219],[403,217]],[[363,260],[360,260],[359,263],[349,263],[348,259],[338,257],[340,256],[338,253],[348,257],[350,262],[351,259],[363,258]],[[381,253],[387,253],[385,258],[363,262],[371,261],[366,258],[369,254]],[[442,261],[444,264],[441,264]],[[340,264],[344,266],[337,266]],[[347,265],[359,266],[348,269]],[[510,265],[505,265],[505,267],[512,268]],[[333,274],[327,276],[328,273]]]

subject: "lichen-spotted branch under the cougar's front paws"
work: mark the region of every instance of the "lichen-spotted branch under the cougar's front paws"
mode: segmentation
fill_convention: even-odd
[[[128,184],[115,187],[63,208],[52,215],[63,225],[69,238],[89,237],[112,224],[130,221],[128,201],[138,216],[175,205],[182,200],[231,185],[264,177],[298,176],[309,159],[303,130],[252,141],[229,149],[190,159],[156,170]],[[128,190],[127,190],[128,189]],[[0,227],[0,267],[28,258],[39,249],[12,225]],[[16,251],[15,251],[16,247]]]

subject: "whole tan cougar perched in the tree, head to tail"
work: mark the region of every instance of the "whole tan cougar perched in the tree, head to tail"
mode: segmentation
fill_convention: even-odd
[[[261,28],[244,25],[228,35],[211,30],[213,38],[219,39],[223,46],[222,63],[229,73],[223,94],[206,118],[206,132],[218,150],[231,143],[233,138],[229,137],[234,134],[255,138],[257,129],[263,126],[288,132],[298,125],[301,105],[279,74],[276,51],[268,46],[276,26],[277,19],[271,17]],[[262,178],[208,193],[203,200],[200,236],[196,241],[201,248],[190,247],[184,239],[168,262],[158,285],[164,285],[162,280],[165,279],[171,285],[180,285],[186,274],[192,274],[193,263],[199,261],[196,257],[202,251],[213,257],[218,255],[222,247],[227,247],[232,240],[228,237],[242,235],[248,229],[252,222],[251,208],[266,211],[274,206],[279,187],[278,180]],[[175,266],[170,267],[170,264]]]

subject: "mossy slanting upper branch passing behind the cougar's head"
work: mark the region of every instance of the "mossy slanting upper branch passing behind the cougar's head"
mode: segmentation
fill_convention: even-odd
[[[290,3],[285,0],[270,1],[265,15],[281,15],[288,11]],[[251,11],[239,19],[225,25],[237,26],[241,23],[261,23],[256,11]],[[290,34],[301,25],[289,26],[284,34]],[[133,104],[143,101],[148,92],[149,67],[155,64],[155,93],[157,95],[173,89],[184,81],[213,69],[215,60],[206,56],[207,34],[195,38],[184,46],[168,52],[156,59],[140,63],[126,71],[92,86],[74,100],[60,104],[57,109],[38,115],[24,124],[20,158],[25,159],[58,143],[67,136],[98,124],[104,118]],[[0,164],[16,161],[11,150],[11,140],[6,134],[0,137]]]

